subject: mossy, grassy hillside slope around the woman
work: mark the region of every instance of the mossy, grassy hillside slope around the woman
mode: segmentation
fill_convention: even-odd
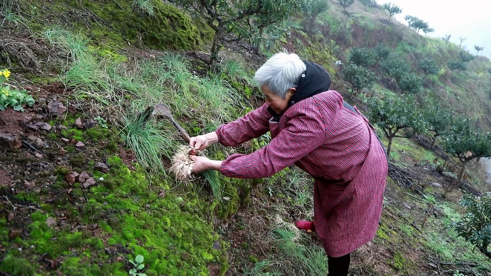
[[[0,155],[1,274],[326,275],[318,238],[293,226],[313,216],[308,175],[292,166],[265,179],[208,172],[177,181],[171,158],[186,141],[170,122],[144,113],[162,102],[191,136],[213,131],[260,104],[251,73],[274,52],[226,43],[220,71],[207,72],[213,30],[169,2],[150,2],[154,15],[122,0],[0,5],[0,70],[12,72],[9,89],[35,99],[25,112],[0,111],[0,138],[9,141]],[[300,17],[290,20],[278,47],[324,65],[332,88],[365,110],[366,96],[349,99],[335,61],[383,43],[423,75],[417,63],[429,56],[439,71],[425,77],[419,100],[436,97],[489,127],[488,59],[452,72],[445,66],[459,55],[456,45],[387,22],[379,5],[364,11],[356,2],[347,11],[330,1],[314,34]],[[381,82],[365,94],[401,93],[372,69]],[[269,139],[204,154],[250,153]],[[452,186],[456,167],[428,148],[424,137],[395,138],[380,228],[354,252],[351,275],[491,274],[491,262],[451,226],[464,214],[463,191]],[[462,189],[490,191],[485,178],[472,162]]]

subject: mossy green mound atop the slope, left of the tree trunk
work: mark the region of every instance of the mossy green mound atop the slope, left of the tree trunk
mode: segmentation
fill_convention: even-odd
[[[89,26],[75,22],[74,27],[82,29],[86,36],[92,37],[98,55],[112,60],[125,59],[113,49],[127,42],[151,49],[198,49],[211,42],[214,31],[199,19],[180,11],[171,4],[152,0],[154,15],[133,7],[124,0],[56,0],[59,13],[71,9],[87,10],[101,20],[89,21]],[[40,3],[42,4],[42,2]],[[32,26],[32,28],[40,28]]]

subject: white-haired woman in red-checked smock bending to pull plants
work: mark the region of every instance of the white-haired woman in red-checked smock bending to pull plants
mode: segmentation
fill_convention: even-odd
[[[315,231],[328,256],[329,276],[348,275],[350,253],[377,231],[387,177],[386,153],[367,119],[334,90],[321,66],[298,55],[273,55],[254,76],[266,103],[216,132],[191,138],[193,172],[268,177],[293,164],[315,178]],[[271,132],[271,142],[223,161],[194,156],[209,144],[237,146]]]

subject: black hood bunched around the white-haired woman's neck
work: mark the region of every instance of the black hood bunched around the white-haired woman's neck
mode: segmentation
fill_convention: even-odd
[[[331,79],[321,65],[310,61],[304,61],[304,63],[306,69],[297,82],[297,91],[290,99],[288,108],[301,100],[329,90],[329,86],[331,85]],[[271,108],[268,108],[268,110],[274,119],[279,120],[282,114],[276,114]]]

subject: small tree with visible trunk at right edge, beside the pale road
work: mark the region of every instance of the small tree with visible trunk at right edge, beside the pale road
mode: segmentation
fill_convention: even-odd
[[[445,152],[462,163],[457,183],[461,182],[469,161],[478,157],[491,157],[491,133],[476,129],[468,117],[458,116],[453,119],[450,130],[441,135],[441,140]]]

